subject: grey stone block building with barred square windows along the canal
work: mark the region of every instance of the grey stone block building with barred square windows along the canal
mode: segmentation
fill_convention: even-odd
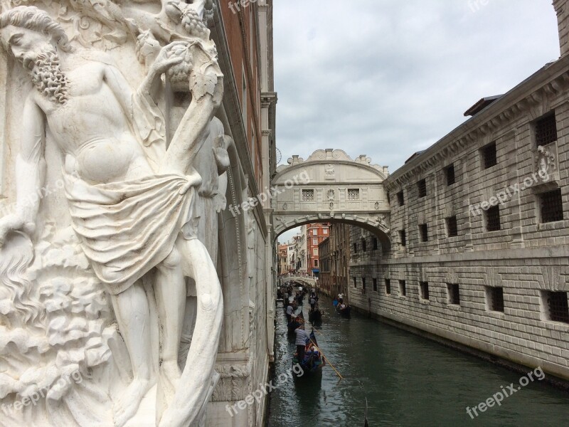
[[[351,305],[569,379],[569,5],[561,56],[385,180],[390,253],[351,233]],[[365,246],[364,246],[365,245]]]

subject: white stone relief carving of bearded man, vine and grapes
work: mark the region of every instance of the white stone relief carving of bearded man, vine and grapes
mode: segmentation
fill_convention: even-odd
[[[212,6],[2,6],[2,143],[14,153],[2,183],[14,209],[0,218],[6,426],[136,426],[142,399],[157,426],[204,423],[219,377],[216,230],[233,144],[213,117],[223,74]],[[166,90],[184,102],[168,106]]]

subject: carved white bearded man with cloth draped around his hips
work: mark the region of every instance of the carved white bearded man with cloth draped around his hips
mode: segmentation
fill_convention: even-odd
[[[0,219],[0,241],[10,231],[33,233],[39,201],[29,203],[26,196],[43,186],[48,129],[62,157],[73,228],[97,278],[112,296],[131,359],[134,379],[114,402],[115,426],[134,416],[154,384],[149,302],[142,287],[142,278],[151,270],[160,340],[156,422],[164,426],[195,422],[211,393],[208,383],[213,374],[213,360],[200,355],[217,349],[223,300],[206,248],[195,233],[185,232],[191,228],[187,223],[193,186],[201,184],[197,173],[186,173],[219,105],[220,72],[210,72],[210,60],[192,74],[190,85],[200,93],[193,94],[166,151],[164,141],[156,136],[159,130],[142,122],[134,105],[148,102],[159,77],[181,62],[172,55],[176,43],[161,49],[139,91],[132,93],[117,68],[73,53],[63,28],[35,7],[20,6],[2,14],[0,38],[36,88],[29,93],[22,115],[16,214]],[[209,90],[201,85],[204,76]],[[212,81],[217,82],[214,88]],[[198,295],[196,333],[188,360],[200,362],[184,378],[184,388],[196,392],[181,399],[176,385],[181,377],[177,357],[185,275],[196,280]]]

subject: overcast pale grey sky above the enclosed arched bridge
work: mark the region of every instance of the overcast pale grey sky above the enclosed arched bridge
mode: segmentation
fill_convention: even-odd
[[[551,3],[276,0],[282,163],[334,148],[395,171],[559,57]]]

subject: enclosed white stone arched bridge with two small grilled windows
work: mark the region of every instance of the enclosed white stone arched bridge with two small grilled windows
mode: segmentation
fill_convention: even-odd
[[[319,149],[304,160],[292,156],[272,179],[275,236],[306,223],[344,222],[366,228],[390,251],[390,210],[383,181],[387,167],[340,149]]]

